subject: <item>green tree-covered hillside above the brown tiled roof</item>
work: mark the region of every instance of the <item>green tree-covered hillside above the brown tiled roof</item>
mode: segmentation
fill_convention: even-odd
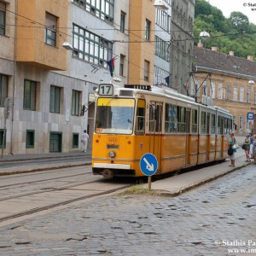
[[[199,42],[200,32],[206,31],[210,38],[201,40],[205,48],[217,46],[218,51],[226,54],[233,50],[238,57],[256,57],[256,25],[249,22],[247,15],[236,11],[225,18],[220,9],[206,0],[195,0],[194,25],[195,45]]]

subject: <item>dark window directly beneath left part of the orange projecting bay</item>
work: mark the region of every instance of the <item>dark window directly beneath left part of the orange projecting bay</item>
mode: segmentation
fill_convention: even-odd
[[[24,82],[24,102],[23,108],[36,110],[37,83],[29,80]]]

